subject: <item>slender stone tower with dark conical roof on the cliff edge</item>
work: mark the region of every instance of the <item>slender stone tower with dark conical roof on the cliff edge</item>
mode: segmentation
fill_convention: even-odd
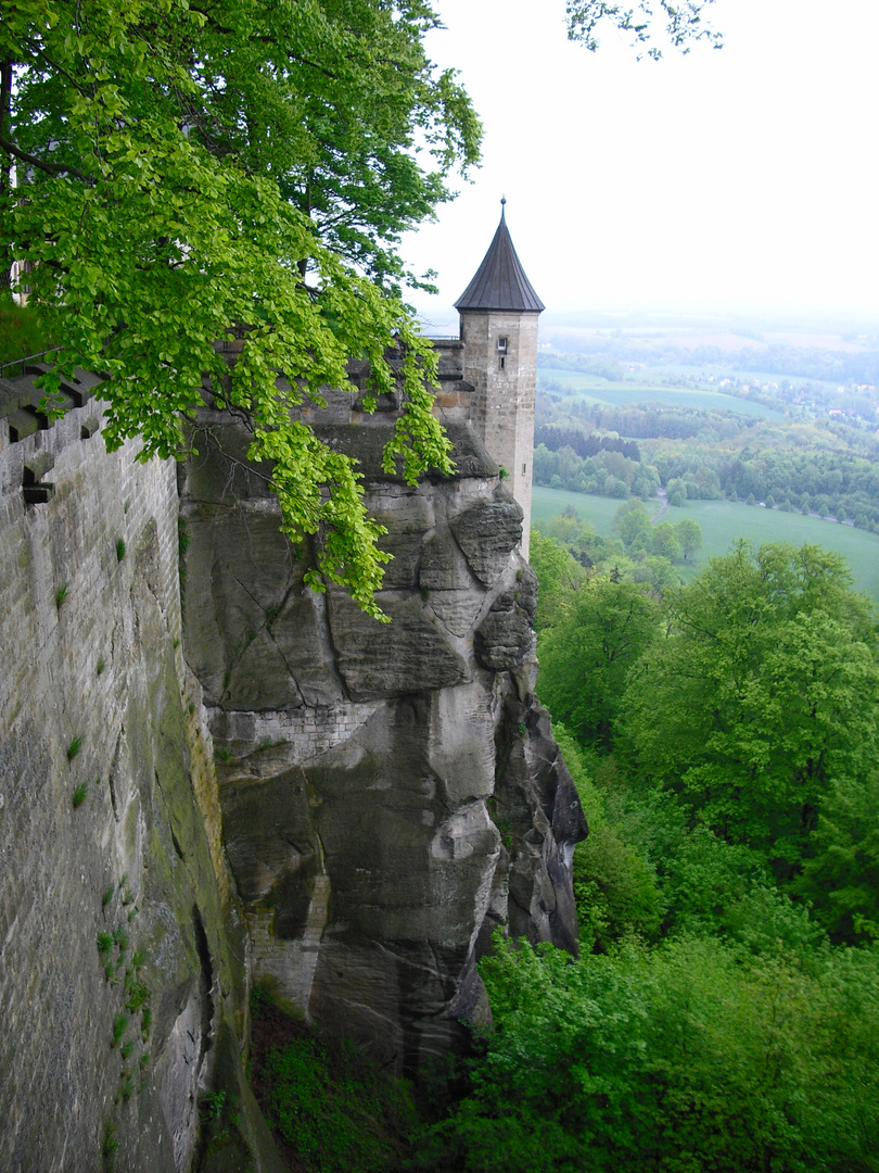
[[[500,223],[476,277],[455,303],[464,343],[464,379],[476,388],[472,423],[505,468],[523,508],[522,552],[529,556],[531,460],[534,448],[537,319],[544,304]]]

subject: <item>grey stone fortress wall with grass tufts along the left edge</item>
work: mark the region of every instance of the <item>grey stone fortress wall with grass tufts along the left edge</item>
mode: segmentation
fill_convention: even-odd
[[[171,1173],[246,1006],[176,468],[107,453],[84,372],[49,426],[39,371],[0,381],[0,1168]]]

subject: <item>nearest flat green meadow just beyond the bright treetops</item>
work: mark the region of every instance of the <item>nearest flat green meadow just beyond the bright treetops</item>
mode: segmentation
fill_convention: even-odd
[[[538,484],[533,493],[533,521],[554,517],[566,506],[572,506],[582,521],[592,522],[599,534],[614,536],[613,516],[620,501]],[[647,502],[647,508],[659,508],[657,502]],[[879,536],[875,534],[820,517],[804,517],[802,514],[731,501],[688,501],[681,509],[669,509],[665,520],[674,524],[683,517],[699,522],[703,538],[695,565],[681,568],[684,578],[697,574],[709,558],[725,554],[738,537],[755,545],[763,542],[790,542],[791,545],[811,542],[841,554],[852,571],[856,590],[866,591],[879,605]]]

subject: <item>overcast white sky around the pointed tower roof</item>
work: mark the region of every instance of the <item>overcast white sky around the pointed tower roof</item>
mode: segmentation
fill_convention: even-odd
[[[564,0],[437,0],[484,164],[406,240],[440,327],[497,226],[548,310],[759,310],[879,321],[879,2],[717,0],[721,50],[567,42]]]

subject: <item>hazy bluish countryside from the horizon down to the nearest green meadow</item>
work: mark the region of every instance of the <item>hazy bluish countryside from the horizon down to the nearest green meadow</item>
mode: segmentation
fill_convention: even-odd
[[[851,521],[863,529],[879,524],[873,386],[879,354],[770,346],[759,355],[762,368],[789,371],[797,381],[769,384],[708,377],[700,366],[716,362],[731,373],[757,361],[751,351],[688,350],[656,335],[647,341],[602,335],[600,344],[601,352],[593,354],[541,352],[536,483],[621,500],[648,500],[663,488],[672,506],[729,497]],[[783,352],[784,361],[776,352]],[[620,385],[632,380],[632,366],[618,358],[633,355],[649,360],[654,380],[663,364],[687,367],[693,378],[662,378],[649,402],[638,402],[633,386],[632,402],[624,402]],[[597,377],[598,386],[578,395],[552,378],[553,371]],[[845,382],[808,381],[813,372],[817,379]],[[602,402],[601,380],[613,386],[619,406]],[[693,406],[681,404],[680,394],[676,406],[654,401],[661,399],[662,385],[693,389]],[[697,392],[709,386],[769,411],[759,416],[706,406]]]

